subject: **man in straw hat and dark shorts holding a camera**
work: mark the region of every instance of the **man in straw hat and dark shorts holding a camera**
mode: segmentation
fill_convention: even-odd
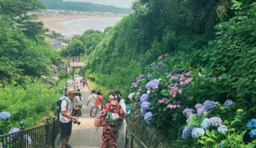
[[[72,122],[73,120],[78,120],[77,117],[71,116],[73,109],[79,110],[79,108],[75,108],[73,101],[77,91],[69,88],[67,89],[67,94],[68,96],[61,102],[61,114],[59,114],[59,121],[61,122],[61,148],[71,148],[68,143],[72,131]]]

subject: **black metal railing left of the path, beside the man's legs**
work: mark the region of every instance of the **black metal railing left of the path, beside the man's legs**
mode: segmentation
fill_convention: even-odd
[[[24,129],[20,122],[20,131],[0,135],[0,148],[48,148],[55,147],[55,139],[59,133],[57,118],[47,118],[46,123],[34,128]]]

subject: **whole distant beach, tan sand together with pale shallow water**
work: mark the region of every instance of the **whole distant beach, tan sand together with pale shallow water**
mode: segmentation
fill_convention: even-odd
[[[100,30],[114,26],[122,15],[90,15],[90,14],[53,14],[39,15],[38,22],[44,23],[44,28],[60,32],[66,38],[75,34],[83,34],[86,30]]]

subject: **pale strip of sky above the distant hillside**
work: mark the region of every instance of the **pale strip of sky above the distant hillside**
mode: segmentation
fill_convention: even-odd
[[[64,0],[64,1],[82,1],[90,3],[98,3],[102,5],[113,5],[115,7],[131,7],[134,0]]]

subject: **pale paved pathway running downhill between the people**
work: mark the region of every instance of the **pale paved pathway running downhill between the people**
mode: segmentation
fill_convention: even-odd
[[[77,77],[79,82],[82,77]],[[80,85],[79,85],[80,86]],[[82,87],[80,89],[82,97],[84,98],[84,104],[87,104],[87,98],[90,95],[88,87]],[[94,118],[89,116],[89,108],[82,109],[82,116],[79,117],[80,125],[73,124],[72,134],[69,140],[69,145],[74,148],[98,148],[100,147],[100,140],[102,136],[102,127],[98,129],[94,134],[96,127],[94,126]],[[61,143],[57,146],[61,148]]]

